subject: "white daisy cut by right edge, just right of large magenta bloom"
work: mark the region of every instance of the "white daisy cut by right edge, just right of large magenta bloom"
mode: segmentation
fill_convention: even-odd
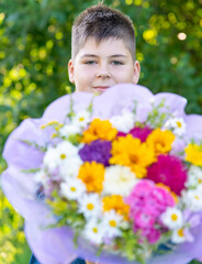
[[[199,185],[202,185],[202,169],[192,165],[188,170],[188,180],[186,183],[186,187],[197,188]]]

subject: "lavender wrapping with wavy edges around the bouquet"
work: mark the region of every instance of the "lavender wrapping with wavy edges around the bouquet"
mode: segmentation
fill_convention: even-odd
[[[72,242],[74,233],[67,227],[47,229],[55,222],[47,205],[37,200],[35,183],[32,174],[25,174],[22,169],[40,167],[43,153],[34,146],[29,146],[23,141],[35,142],[44,147],[50,138],[50,130],[41,130],[41,125],[57,120],[63,122],[69,108],[70,98],[74,101],[74,111],[87,109],[92,101],[93,117],[109,119],[119,114],[123,109],[132,110],[134,100],[138,101],[137,119],[141,122],[150,110],[150,101],[158,105],[162,98],[166,106],[177,117],[183,117],[187,123],[186,139],[199,139],[202,135],[202,117],[197,114],[187,116],[184,107],[187,100],[173,94],[153,95],[147,88],[133,85],[117,85],[106,90],[101,96],[77,92],[71,97],[64,96],[54,101],[45,110],[41,119],[27,119],[16,128],[9,136],[3,157],[8,163],[7,170],[2,174],[2,188],[16,211],[25,219],[25,235],[27,242],[42,264],[68,264],[77,256],[103,264],[130,264],[126,258],[113,254],[101,253],[97,256],[97,249],[89,248],[79,239],[78,248]],[[93,100],[92,100],[93,98]],[[156,255],[147,264],[186,264],[202,255],[202,229],[193,230],[194,242],[180,244],[175,251],[165,255]]]

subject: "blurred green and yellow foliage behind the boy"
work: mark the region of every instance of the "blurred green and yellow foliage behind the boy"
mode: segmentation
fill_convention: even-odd
[[[105,0],[134,21],[139,84],[188,99],[202,114],[202,0]],[[38,118],[68,81],[74,18],[96,1],[0,0],[0,173],[9,133]],[[23,220],[0,190],[0,263],[29,263]],[[195,264],[198,262],[194,262]]]

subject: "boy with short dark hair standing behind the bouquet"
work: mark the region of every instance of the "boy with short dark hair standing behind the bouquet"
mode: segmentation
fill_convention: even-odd
[[[115,84],[137,84],[139,72],[135,32],[126,15],[104,4],[79,14],[72,25],[68,64],[69,80],[76,91],[103,92]],[[82,263],[79,258],[74,262]],[[32,257],[30,264],[38,262]]]

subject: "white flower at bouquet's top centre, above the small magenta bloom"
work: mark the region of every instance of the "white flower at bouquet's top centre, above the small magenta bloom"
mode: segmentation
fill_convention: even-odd
[[[135,114],[132,112],[123,112],[122,116],[114,116],[110,119],[110,122],[119,131],[128,133],[134,128]]]

